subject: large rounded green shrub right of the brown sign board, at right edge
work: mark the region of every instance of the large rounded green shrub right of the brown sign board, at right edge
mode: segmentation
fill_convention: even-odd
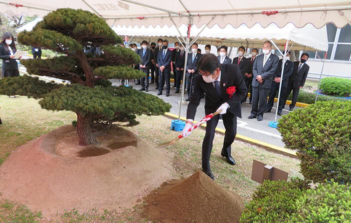
[[[286,147],[296,149],[301,173],[322,182],[351,182],[351,101],[323,101],[279,120]]]

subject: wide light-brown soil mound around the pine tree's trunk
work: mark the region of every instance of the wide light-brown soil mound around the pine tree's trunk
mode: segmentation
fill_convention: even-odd
[[[79,146],[76,129],[63,126],[19,147],[0,166],[0,197],[46,217],[72,208],[122,211],[171,178],[165,149],[123,128],[98,141],[96,147]],[[108,147],[118,142],[125,146]]]

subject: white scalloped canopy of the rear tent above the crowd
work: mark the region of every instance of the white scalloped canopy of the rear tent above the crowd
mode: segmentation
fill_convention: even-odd
[[[193,33],[199,33],[204,28],[193,26]],[[185,24],[178,27],[182,36],[187,36],[187,26]],[[179,33],[177,28],[172,26],[151,25],[145,27],[142,25],[138,26],[126,26],[117,25],[113,26],[112,29],[119,35],[134,36],[133,40],[149,40],[155,41],[158,37],[167,37],[168,40],[177,41]],[[171,38],[169,38],[171,37]],[[273,39],[274,42],[284,47],[286,40],[289,39],[290,43],[293,43],[292,50],[320,50],[326,51],[328,49],[328,40],[326,34],[326,27],[315,28],[312,24],[307,24],[302,28],[296,28],[292,23],[288,23],[282,28],[279,28],[276,24],[269,24],[267,27],[262,27],[259,23],[254,24],[251,28],[245,24],[240,25],[238,28],[234,28],[232,25],[226,25],[221,28],[219,25],[214,25],[211,28],[205,27],[200,33],[199,38],[196,42],[200,44],[212,44],[212,45],[227,45],[227,46],[240,46],[244,45],[250,48],[261,47],[262,42],[266,39]]]

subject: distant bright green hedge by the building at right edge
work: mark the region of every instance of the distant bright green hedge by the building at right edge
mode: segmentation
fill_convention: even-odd
[[[351,79],[326,77],[321,79],[320,89],[328,95],[348,97],[351,95]]]

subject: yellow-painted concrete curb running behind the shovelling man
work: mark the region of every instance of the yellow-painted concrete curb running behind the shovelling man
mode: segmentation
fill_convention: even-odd
[[[178,115],[175,115],[175,114],[172,114],[172,113],[169,113],[169,112],[165,112],[164,113],[164,116],[168,117],[168,118],[171,118],[171,119],[178,119]],[[186,120],[187,118],[186,117],[182,117],[181,116],[181,120]],[[196,121],[194,121],[196,122]],[[201,127],[203,129],[206,129],[206,124],[202,124]],[[220,133],[220,134],[224,134],[225,133],[225,129],[223,128],[219,128],[217,127],[216,128],[216,132],[217,133]],[[271,152],[275,152],[275,153],[279,153],[279,154],[282,154],[282,155],[287,155],[287,156],[290,156],[292,158],[297,158],[298,159],[298,156],[296,154],[295,151],[292,151],[288,148],[284,148],[284,147],[280,147],[280,146],[277,146],[277,145],[272,145],[272,144],[269,144],[269,143],[266,143],[266,142],[263,142],[263,141],[260,141],[260,140],[257,140],[257,139],[254,139],[254,138],[250,138],[250,137],[247,137],[247,136],[244,136],[244,135],[241,135],[241,134],[237,134],[235,139],[239,139],[241,141],[245,141],[245,142],[248,142],[250,144],[253,144],[253,145],[257,145],[257,146],[260,146],[268,151],[271,151]]]

